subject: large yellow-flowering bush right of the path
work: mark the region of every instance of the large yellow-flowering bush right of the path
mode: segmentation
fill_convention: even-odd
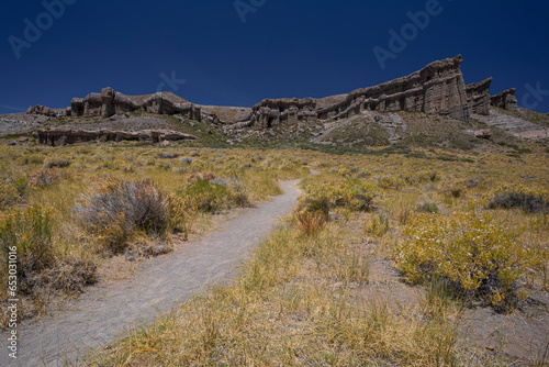
[[[395,253],[406,280],[447,279],[466,298],[481,298],[496,310],[518,300],[517,280],[536,263],[536,254],[490,213],[414,214]]]

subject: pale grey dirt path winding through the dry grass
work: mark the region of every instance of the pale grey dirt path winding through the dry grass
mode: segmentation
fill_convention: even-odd
[[[79,357],[135,323],[154,320],[206,286],[234,276],[235,266],[293,208],[300,194],[296,182],[282,182],[282,196],[244,210],[184,248],[144,262],[132,279],[91,288],[69,310],[24,325],[18,359],[3,351],[0,366],[77,365]]]

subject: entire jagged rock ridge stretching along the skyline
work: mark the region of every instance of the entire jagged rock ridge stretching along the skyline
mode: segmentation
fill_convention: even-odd
[[[75,116],[110,118],[138,109],[155,114],[181,114],[190,120],[208,120],[229,124],[229,129],[253,126],[269,129],[277,124],[347,119],[367,111],[424,112],[449,115],[468,122],[471,114],[488,115],[491,105],[516,110],[515,89],[490,97],[492,78],[466,86],[461,73],[461,55],[434,62],[406,77],[378,86],[361,88],[348,94],[322,99],[265,99],[251,109],[197,105],[169,92],[149,96],[125,96],[112,88],[90,93],[85,99],[74,98],[65,114]],[[55,115],[44,107],[29,113]],[[58,115],[58,114],[57,114]]]

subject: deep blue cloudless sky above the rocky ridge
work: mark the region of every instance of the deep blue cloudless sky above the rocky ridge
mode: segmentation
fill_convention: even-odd
[[[407,12],[434,0],[243,0],[259,4],[245,23],[234,0],[65,1],[75,3],[48,29],[42,1],[3,1],[0,113],[66,107],[105,86],[150,93],[172,73],[187,81],[163,90],[195,103],[250,107],[348,92],[457,54],[466,82],[492,76],[493,94],[515,87],[519,104],[549,112],[547,1],[439,0],[440,14],[384,69],[373,47],[389,49],[389,31],[400,33]],[[25,41],[24,20],[36,25],[37,16],[46,30],[18,59],[9,37]],[[538,85],[548,92],[528,92]]]

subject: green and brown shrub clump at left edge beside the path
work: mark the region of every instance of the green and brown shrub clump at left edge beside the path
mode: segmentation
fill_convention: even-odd
[[[97,281],[93,262],[60,251],[54,243],[53,232],[53,213],[40,205],[0,215],[0,280],[8,285],[9,262],[15,257],[21,319],[43,313],[51,296],[58,291],[79,293]],[[14,298],[8,297],[7,291],[7,287],[0,290],[2,304],[8,298]],[[2,307],[0,327],[4,327],[8,320],[7,309]]]

